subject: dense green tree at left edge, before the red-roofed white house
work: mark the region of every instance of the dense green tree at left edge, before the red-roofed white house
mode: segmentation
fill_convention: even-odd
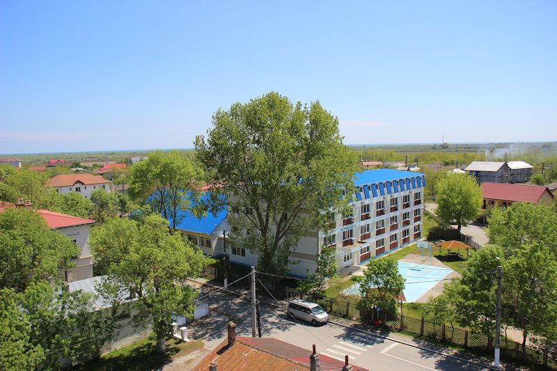
[[[21,292],[31,283],[57,278],[78,255],[79,248],[50,230],[40,214],[26,209],[0,213],[0,287]]]

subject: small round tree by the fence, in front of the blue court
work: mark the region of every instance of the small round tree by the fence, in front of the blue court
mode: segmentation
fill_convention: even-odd
[[[358,306],[364,311],[370,311],[372,306],[379,306],[383,316],[386,313],[395,313],[396,299],[404,288],[405,280],[398,272],[395,260],[391,258],[371,260],[360,283],[362,299]]]

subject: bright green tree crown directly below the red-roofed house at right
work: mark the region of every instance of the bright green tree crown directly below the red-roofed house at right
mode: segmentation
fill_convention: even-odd
[[[489,218],[487,235],[492,244],[511,256],[522,245],[546,246],[557,258],[557,209],[533,203],[513,203],[496,207]]]

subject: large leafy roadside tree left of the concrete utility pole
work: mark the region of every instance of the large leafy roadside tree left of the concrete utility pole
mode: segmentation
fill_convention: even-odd
[[[91,251],[97,268],[108,275],[107,292],[130,290],[137,298],[132,305],[154,317],[157,351],[164,352],[171,315],[191,315],[194,308],[195,291],[187,278],[201,274],[207,258],[179,234],[171,234],[159,214],[141,221],[109,219],[93,230]]]

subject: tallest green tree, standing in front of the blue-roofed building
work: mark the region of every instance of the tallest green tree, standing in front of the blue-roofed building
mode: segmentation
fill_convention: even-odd
[[[216,186],[213,206],[226,200],[231,242],[257,253],[259,270],[284,274],[301,236],[324,228],[324,211],[343,210],[343,191],[354,189],[338,118],[319,102],[268,93],[219,109],[212,124],[196,155]]]

